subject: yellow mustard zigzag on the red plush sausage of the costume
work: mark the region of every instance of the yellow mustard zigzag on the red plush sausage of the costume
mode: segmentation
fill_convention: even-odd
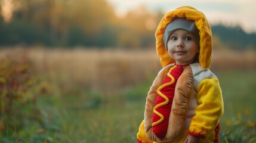
[[[164,118],[165,118],[165,117],[164,117],[161,113],[159,113],[158,111],[156,111],[156,109],[159,108],[159,107],[161,107],[161,106],[163,106],[163,105],[168,104],[168,102],[169,102],[169,98],[166,97],[166,95],[162,94],[161,90],[162,90],[163,88],[165,88],[166,86],[172,85],[172,84],[175,82],[175,79],[174,79],[174,77],[170,74],[170,72],[171,72],[173,69],[175,69],[176,67],[177,67],[176,65],[173,66],[173,67],[169,70],[169,72],[167,73],[167,76],[171,78],[171,82],[168,82],[168,83],[165,83],[164,85],[161,85],[161,86],[158,88],[158,90],[156,91],[156,92],[158,93],[158,95],[160,95],[162,98],[165,99],[165,101],[159,103],[158,105],[155,105],[155,107],[153,108],[153,113],[157,114],[161,119],[159,119],[158,121],[152,123],[152,126],[156,126],[156,125],[158,125],[159,123],[161,123],[161,122],[164,121]]]

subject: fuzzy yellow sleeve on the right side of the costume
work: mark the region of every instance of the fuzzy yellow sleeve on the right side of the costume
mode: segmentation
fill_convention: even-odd
[[[190,123],[189,131],[208,138],[224,113],[223,98],[218,79],[203,79],[198,86],[198,107]]]

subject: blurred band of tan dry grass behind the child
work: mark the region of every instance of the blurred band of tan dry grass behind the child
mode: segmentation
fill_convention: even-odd
[[[121,91],[155,76],[161,69],[155,49],[24,49],[5,48],[0,58],[23,60],[27,58],[32,67],[35,82],[42,76],[64,88],[78,85],[92,91]],[[255,51],[215,51],[213,70],[256,69]],[[45,80],[44,79],[44,80]]]

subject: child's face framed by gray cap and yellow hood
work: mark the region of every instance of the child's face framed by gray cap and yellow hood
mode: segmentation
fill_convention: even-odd
[[[192,35],[183,29],[175,30],[169,36],[167,42],[168,54],[176,61],[176,64],[192,64],[195,60],[199,47]]]

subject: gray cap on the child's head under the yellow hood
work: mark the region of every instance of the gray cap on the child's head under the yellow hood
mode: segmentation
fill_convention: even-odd
[[[195,21],[187,20],[186,18],[174,18],[174,20],[172,20],[171,23],[169,23],[165,29],[163,40],[164,40],[166,49],[167,49],[167,42],[168,42],[169,36],[171,35],[172,32],[174,32],[177,29],[183,29],[189,32],[195,39],[198,47],[200,47],[199,45],[200,35],[199,35],[198,27],[196,27]]]

